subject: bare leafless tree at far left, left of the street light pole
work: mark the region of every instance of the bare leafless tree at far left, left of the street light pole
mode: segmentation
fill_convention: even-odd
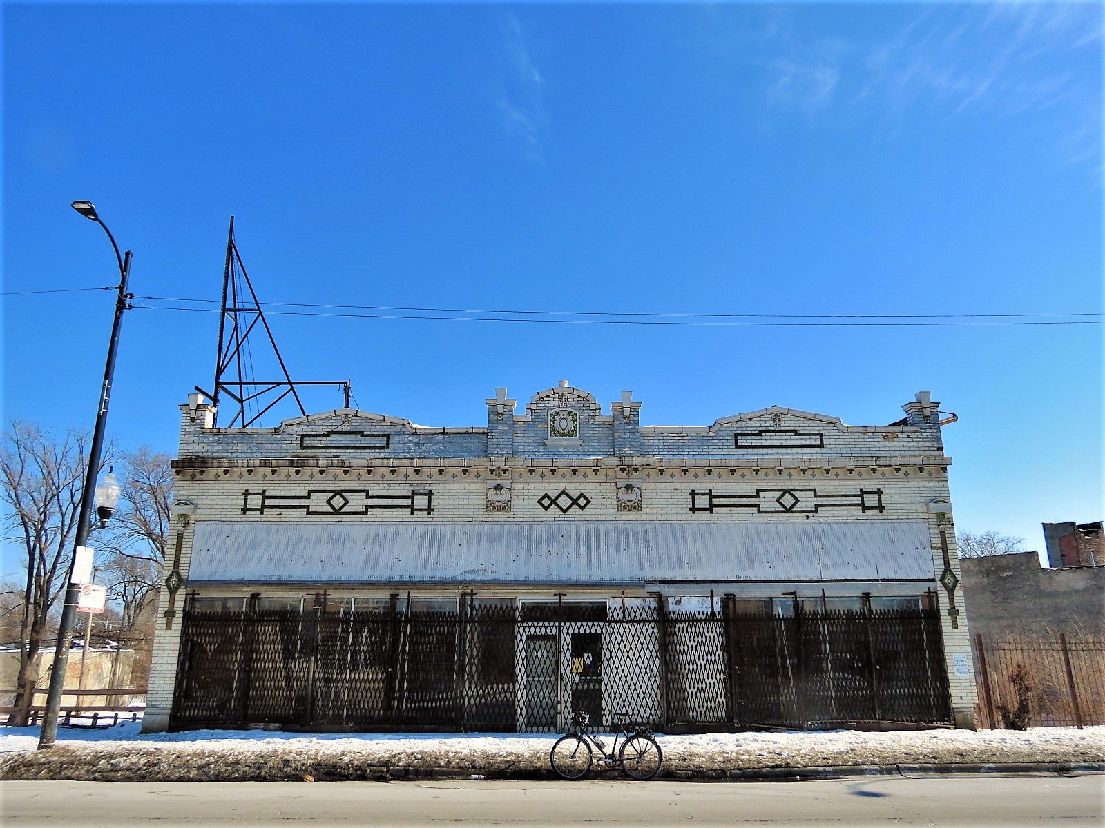
[[[50,627],[50,614],[65,590],[81,493],[88,436],[69,429],[57,437],[32,423],[9,421],[0,449],[0,500],[4,540],[22,546],[27,558],[19,624],[19,673],[15,711],[8,723],[25,726],[30,719],[35,658]],[[104,465],[114,447],[104,450]]]

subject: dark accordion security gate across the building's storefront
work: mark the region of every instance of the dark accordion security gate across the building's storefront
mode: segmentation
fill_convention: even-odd
[[[597,723],[630,711],[666,732],[951,721],[933,609],[315,603],[188,602],[170,728],[556,732],[571,709]]]

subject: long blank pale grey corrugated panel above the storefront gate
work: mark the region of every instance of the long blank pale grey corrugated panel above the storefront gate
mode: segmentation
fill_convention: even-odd
[[[932,580],[923,520],[265,522],[196,527],[188,580],[549,583]]]

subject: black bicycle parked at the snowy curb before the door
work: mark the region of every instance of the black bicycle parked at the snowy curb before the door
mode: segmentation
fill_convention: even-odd
[[[608,753],[606,743],[591,733],[588,726],[591,716],[582,710],[575,711],[567,734],[560,736],[549,751],[552,771],[564,779],[582,778],[591,769],[591,745],[594,745],[599,750],[599,762],[621,767],[631,779],[644,782],[660,773],[664,754],[653,739],[652,731],[642,725],[629,729],[629,713],[614,713],[614,719],[618,730]],[[621,736],[624,739],[619,750],[618,740]]]

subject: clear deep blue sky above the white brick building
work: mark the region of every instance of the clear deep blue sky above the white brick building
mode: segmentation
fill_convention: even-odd
[[[567,379],[648,424],[885,424],[925,389],[959,527],[1102,517],[1096,4],[9,3],[3,46],[7,416],[92,426],[110,293],[12,295],[116,283],[88,199],[160,297],[126,316],[127,446],[175,452],[211,382],[217,315],[166,297],[218,299],[233,214],[267,301],[949,315],[271,316],[364,410],[481,425]],[[971,316],[1030,314],[1095,316]]]

